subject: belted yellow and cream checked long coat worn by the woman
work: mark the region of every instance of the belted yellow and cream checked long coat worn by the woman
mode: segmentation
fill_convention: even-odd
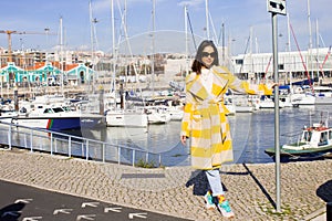
[[[196,169],[219,168],[232,161],[232,145],[224,95],[231,88],[243,94],[270,95],[266,85],[249,85],[234,76],[226,67],[214,66],[212,90],[207,92],[199,75],[186,77],[186,105],[181,136],[191,137],[191,166]]]

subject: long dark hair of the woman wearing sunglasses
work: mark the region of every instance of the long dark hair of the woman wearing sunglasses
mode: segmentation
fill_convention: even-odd
[[[206,48],[206,46],[211,46],[214,48],[215,52],[216,52],[216,56],[215,56],[215,60],[214,60],[214,63],[211,65],[219,65],[219,57],[218,57],[218,50],[217,50],[217,46],[215,45],[215,43],[210,40],[205,40],[203,41],[198,49],[197,49],[197,53],[196,53],[196,56],[195,56],[195,60],[193,62],[193,65],[191,65],[191,71],[193,72],[196,72],[197,74],[200,74],[201,73],[201,66],[204,66],[204,63],[201,62],[201,52],[203,50]]]

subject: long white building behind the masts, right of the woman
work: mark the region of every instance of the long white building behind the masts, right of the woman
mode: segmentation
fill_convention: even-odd
[[[273,78],[272,53],[239,54],[231,57],[232,72],[243,80]],[[278,52],[279,78],[305,80],[332,76],[329,48],[310,51]],[[318,74],[319,73],[319,74]]]

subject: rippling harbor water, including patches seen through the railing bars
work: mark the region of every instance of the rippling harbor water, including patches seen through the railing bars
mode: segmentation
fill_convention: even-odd
[[[310,126],[314,123],[324,122],[325,124],[332,112],[332,105],[317,105],[308,107],[281,108],[279,110],[279,144],[294,143],[299,139],[301,130],[304,126]],[[234,116],[228,116],[230,124],[234,156],[235,160],[231,164],[264,164],[273,162],[273,158],[264,152],[264,149],[274,147],[274,109],[260,109],[253,113],[237,113]],[[332,123],[331,123],[332,124]],[[22,129],[20,129],[22,131]],[[0,137],[6,140],[8,129],[0,130]],[[107,144],[105,157],[111,161],[116,161],[121,156],[122,161],[132,164],[133,151],[120,151],[116,147],[129,147],[139,149],[136,151],[136,160],[145,161],[154,160],[157,165],[163,166],[189,166],[190,149],[189,141],[187,146],[181,145],[179,140],[180,122],[169,122],[162,125],[149,125],[147,128],[133,127],[101,127],[101,128],[82,128],[81,130],[71,130],[66,134],[75,135],[79,138],[87,138],[90,140],[100,140]],[[30,135],[28,134],[28,137]],[[81,139],[80,138],[80,139]],[[27,135],[14,133],[12,136],[14,144],[19,146],[38,146],[37,149],[48,151],[49,136],[43,138],[35,136],[31,137],[31,141],[27,141]],[[58,137],[58,140],[62,139]],[[76,138],[77,139],[77,138]],[[73,156],[82,156],[90,158],[100,158],[102,156],[101,146],[96,145],[93,149],[93,141],[90,141],[90,154],[86,152],[86,144],[80,140],[72,143],[71,151]],[[69,151],[68,141],[56,143],[54,146],[55,152],[65,154]],[[115,148],[114,148],[115,147]],[[92,149],[91,149],[92,148]],[[138,155],[142,152],[143,155]],[[144,155],[144,152],[149,152]],[[154,158],[152,158],[154,157]],[[157,158],[156,158],[157,157]],[[147,160],[148,158],[148,160]],[[294,158],[294,160],[311,160],[315,158]]]

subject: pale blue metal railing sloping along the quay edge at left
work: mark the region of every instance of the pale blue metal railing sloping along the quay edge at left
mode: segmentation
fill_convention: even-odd
[[[9,149],[19,147],[30,149],[31,152],[44,151],[51,155],[132,166],[144,160],[145,162],[157,162],[155,166],[158,167],[162,166],[160,154],[49,129],[37,129],[0,122],[0,143],[8,145]]]

